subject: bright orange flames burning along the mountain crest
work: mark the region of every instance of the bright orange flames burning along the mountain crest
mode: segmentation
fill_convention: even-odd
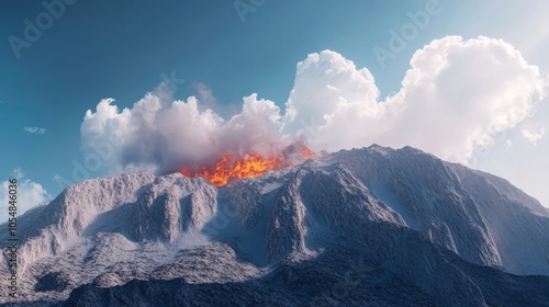
[[[201,167],[198,171],[191,171],[190,168],[183,167],[181,173],[188,178],[202,177],[216,186],[223,186],[244,178],[255,178],[268,171],[294,166],[314,157],[314,152],[306,146],[290,145],[276,157],[265,157],[259,154],[226,154],[213,166]]]

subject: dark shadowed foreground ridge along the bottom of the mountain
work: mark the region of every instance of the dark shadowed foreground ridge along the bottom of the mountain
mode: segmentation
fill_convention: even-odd
[[[461,274],[479,285],[482,296],[441,297],[367,258],[339,247],[315,259],[281,262],[266,276],[237,283],[190,284],[176,278],[134,280],[110,288],[85,285],[60,306],[548,306],[545,276],[462,263]]]

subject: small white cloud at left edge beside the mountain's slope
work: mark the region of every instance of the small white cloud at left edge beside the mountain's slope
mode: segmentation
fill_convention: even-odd
[[[13,171],[12,178],[16,179],[16,207],[18,215],[22,215],[26,211],[44,204],[49,201],[52,196],[47,191],[36,182],[24,178],[25,174],[21,169],[15,169]],[[9,186],[12,183],[9,180],[0,182],[0,215],[5,217],[4,220],[0,220],[0,224],[8,220],[8,207],[9,207]]]

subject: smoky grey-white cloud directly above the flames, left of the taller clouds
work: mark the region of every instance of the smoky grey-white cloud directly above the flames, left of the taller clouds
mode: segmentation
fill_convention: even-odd
[[[212,110],[199,111],[194,96],[163,101],[148,93],[121,112],[113,99],[88,111],[81,125],[85,150],[103,148],[103,159],[115,171],[148,169],[177,171],[186,164],[208,163],[222,155],[278,150],[280,109],[251,94],[242,112],[228,121]]]

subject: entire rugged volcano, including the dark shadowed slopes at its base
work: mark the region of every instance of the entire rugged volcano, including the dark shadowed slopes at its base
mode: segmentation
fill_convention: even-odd
[[[91,179],[19,229],[19,297],[0,288],[14,306],[549,305],[549,211],[411,147],[222,186],[181,173]],[[0,239],[5,251],[7,224]]]

